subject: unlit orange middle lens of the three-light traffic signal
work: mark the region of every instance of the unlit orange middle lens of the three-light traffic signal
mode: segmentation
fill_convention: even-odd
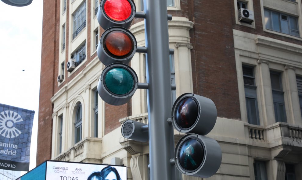
[[[110,32],[104,41],[107,51],[115,57],[122,58],[131,53],[133,49],[131,37],[120,30]]]

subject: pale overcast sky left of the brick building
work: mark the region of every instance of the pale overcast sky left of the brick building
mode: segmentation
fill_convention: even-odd
[[[25,7],[0,1],[0,103],[34,110],[30,169],[36,163],[42,0]]]

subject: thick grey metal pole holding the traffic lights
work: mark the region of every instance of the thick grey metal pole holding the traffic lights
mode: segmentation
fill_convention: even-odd
[[[172,93],[166,0],[144,0],[151,180],[175,180]]]

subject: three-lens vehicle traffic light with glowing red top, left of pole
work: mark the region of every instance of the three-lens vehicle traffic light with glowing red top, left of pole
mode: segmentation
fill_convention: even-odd
[[[137,51],[134,35],[127,29],[135,16],[132,0],[101,0],[97,19],[105,29],[97,54],[106,65],[98,83],[99,96],[111,105],[127,103],[138,88],[138,77],[128,65]]]

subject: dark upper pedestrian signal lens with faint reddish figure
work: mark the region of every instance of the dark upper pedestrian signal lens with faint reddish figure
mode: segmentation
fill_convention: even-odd
[[[197,121],[198,106],[192,98],[185,98],[180,101],[175,111],[175,122],[179,128],[190,128]]]

